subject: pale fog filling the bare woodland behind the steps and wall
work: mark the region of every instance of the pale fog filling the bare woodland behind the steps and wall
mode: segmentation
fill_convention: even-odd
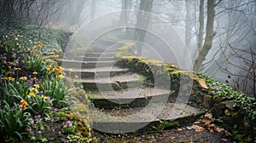
[[[244,78],[247,78],[247,84],[243,87],[247,87],[247,90],[249,87],[255,89],[255,85],[253,86],[256,63],[255,0],[218,0],[213,3],[215,12],[213,15],[207,13],[210,4],[207,0],[31,0],[26,2],[13,0],[13,2],[17,6],[20,6],[20,3],[28,5],[19,9],[17,7],[13,13],[9,13],[9,16],[25,20],[29,24],[67,28],[74,33],[84,34],[82,37],[87,40],[102,36],[97,35],[101,34],[97,31],[103,29],[108,33],[103,34],[103,37],[112,41],[134,40],[135,35],[138,34],[143,36],[143,41],[141,39],[137,41],[145,44],[141,55],[175,63],[182,69],[192,70],[200,51],[208,46],[207,37],[212,37],[210,49],[206,52],[206,56],[202,57],[200,69],[195,71],[206,73],[219,82],[233,86],[239,83],[237,80],[239,77],[246,75]],[[1,8],[3,14],[1,16],[4,17],[6,14],[3,11],[6,11],[6,7],[3,4]],[[140,14],[137,10],[152,15]],[[203,17],[200,17],[200,10],[203,12]],[[212,35],[211,30],[207,29],[208,18],[213,20]],[[142,23],[143,26],[140,26]],[[86,26],[90,29],[86,30]],[[114,29],[116,26],[138,29],[143,27],[146,32],[132,28]],[[200,28],[202,28],[201,32]],[[92,36],[93,34],[96,36]],[[168,46],[171,47],[170,51],[166,48]],[[137,52],[140,53],[139,50]]]

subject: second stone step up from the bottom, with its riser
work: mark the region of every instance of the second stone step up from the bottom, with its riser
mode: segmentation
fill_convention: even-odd
[[[167,101],[170,94],[172,94],[170,90],[142,87],[141,89],[94,92],[90,93],[90,99],[98,108],[131,108],[147,106],[149,102]]]

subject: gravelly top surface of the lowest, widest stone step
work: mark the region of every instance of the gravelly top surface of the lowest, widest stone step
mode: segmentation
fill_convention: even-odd
[[[183,117],[193,117],[201,114],[199,108],[183,103],[149,103],[145,107],[134,107],[128,109],[94,109],[90,117],[94,122],[106,123],[140,123],[154,122],[160,120],[175,120]]]

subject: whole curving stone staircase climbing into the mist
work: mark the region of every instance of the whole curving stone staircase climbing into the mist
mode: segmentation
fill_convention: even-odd
[[[162,121],[193,120],[201,111],[172,99],[172,91],[148,84],[145,77],[115,66],[113,58],[122,44],[93,43],[84,57],[60,60],[64,72],[73,68],[90,96],[93,129],[106,133],[125,133]],[[79,68],[80,67],[80,68]]]

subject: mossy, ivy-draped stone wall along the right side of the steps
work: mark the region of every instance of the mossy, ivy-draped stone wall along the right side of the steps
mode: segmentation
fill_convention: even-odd
[[[152,82],[154,82],[153,72],[154,74],[167,73],[170,76],[171,89],[176,92],[180,88],[186,90],[188,86],[192,86],[189,103],[212,112],[213,116],[221,120],[223,126],[230,129],[233,134],[245,133],[248,138],[253,139],[253,134],[256,134],[255,98],[236,91],[224,83],[218,83],[202,73],[183,71],[168,62],[137,57],[133,53],[134,49],[134,44],[125,43],[115,55],[119,60],[117,65],[129,68],[131,72],[141,73]],[[193,85],[180,85],[181,77],[189,77]]]

